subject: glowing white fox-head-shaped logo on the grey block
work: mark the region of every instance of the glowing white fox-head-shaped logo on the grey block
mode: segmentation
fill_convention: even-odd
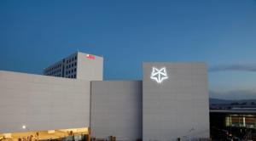
[[[150,78],[152,80],[155,80],[155,82],[158,82],[158,83],[161,83],[164,80],[166,80],[168,78],[166,73],[166,67],[163,67],[161,69],[157,69],[153,67]]]

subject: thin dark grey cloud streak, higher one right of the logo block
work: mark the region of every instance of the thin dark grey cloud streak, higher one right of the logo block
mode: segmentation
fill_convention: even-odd
[[[209,72],[216,72],[216,71],[253,71],[253,72],[256,72],[256,64],[216,65],[209,69]]]

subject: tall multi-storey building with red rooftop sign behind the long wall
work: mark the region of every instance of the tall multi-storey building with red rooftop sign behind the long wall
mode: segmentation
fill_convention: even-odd
[[[103,58],[93,54],[76,52],[44,68],[45,76],[102,80]]]

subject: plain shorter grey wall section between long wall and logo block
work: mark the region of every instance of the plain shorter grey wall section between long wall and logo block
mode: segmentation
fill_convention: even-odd
[[[91,137],[142,138],[142,82],[91,82]]]

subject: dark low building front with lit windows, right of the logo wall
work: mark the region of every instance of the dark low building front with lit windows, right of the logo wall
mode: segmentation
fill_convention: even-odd
[[[212,139],[256,140],[255,110],[210,110],[210,124]]]

